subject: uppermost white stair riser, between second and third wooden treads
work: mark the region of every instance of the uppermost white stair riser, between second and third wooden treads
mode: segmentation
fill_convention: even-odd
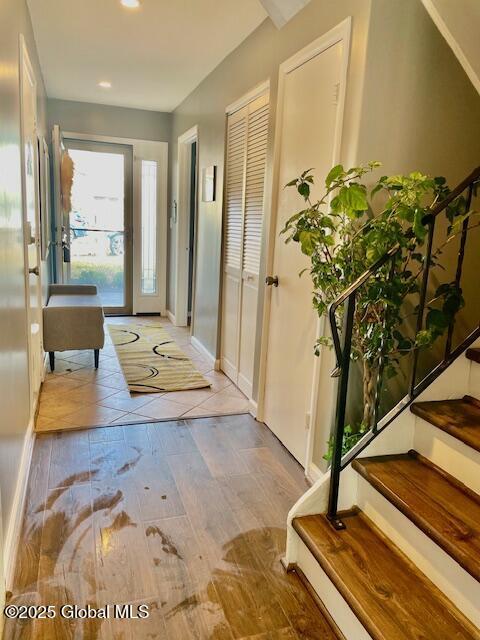
[[[413,448],[480,493],[480,453],[417,416]]]

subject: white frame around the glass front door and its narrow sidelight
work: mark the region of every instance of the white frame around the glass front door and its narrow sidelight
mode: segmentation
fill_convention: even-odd
[[[117,138],[97,136],[88,133],[64,131],[63,138],[105,142],[132,147],[133,151],[133,314],[160,313],[166,315],[167,309],[167,175],[168,143],[136,138]],[[139,176],[141,160],[158,162],[158,228],[157,228],[157,282],[158,294],[143,294],[141,291],[141,178]]]

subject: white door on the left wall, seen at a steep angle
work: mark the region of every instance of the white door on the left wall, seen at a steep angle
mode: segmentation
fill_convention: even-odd
[[[25,255],[30,408],[34,415],[43,376],[40,209],[38,192],[37,90],[23,40],[20,45],[22,200]]]

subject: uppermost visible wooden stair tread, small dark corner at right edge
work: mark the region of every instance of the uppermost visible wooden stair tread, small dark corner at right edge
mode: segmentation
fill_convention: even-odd
[[[411,411],[480,451],[480,403],[471,396],[458,400],[414,402]]]

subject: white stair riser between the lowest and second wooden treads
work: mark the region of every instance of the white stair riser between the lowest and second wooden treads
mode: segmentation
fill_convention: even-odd
[[[357,504],[420,571],[480,627],[480,583],[359,474]]]

